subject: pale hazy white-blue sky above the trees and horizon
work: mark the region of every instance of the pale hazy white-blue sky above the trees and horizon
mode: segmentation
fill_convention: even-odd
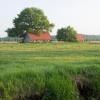
[[[57,29],[68,25],[80,34],[100,35],[100,0],[0,0],[0,37],[13,27],[13,19],[23,9],[37,7],[44,11]]]

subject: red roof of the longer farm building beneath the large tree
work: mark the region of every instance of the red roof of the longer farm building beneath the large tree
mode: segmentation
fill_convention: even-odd
[[[43,32],[38,35],[33,34],[33,33],[28,33],[28,36],[31,39],[31,41],[34,41],[34,40],[44,40],[44,41],[49,40],[50,41],[51,40],[51,36],[48,32]]]

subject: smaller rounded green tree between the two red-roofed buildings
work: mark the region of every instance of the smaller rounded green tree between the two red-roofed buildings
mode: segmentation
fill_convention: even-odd
[[[74,42],[77,41],[76,34],[77,32],[74,30],[74,28],[68,26],[67,28],[58,29],[56,37],[58,41]]]

